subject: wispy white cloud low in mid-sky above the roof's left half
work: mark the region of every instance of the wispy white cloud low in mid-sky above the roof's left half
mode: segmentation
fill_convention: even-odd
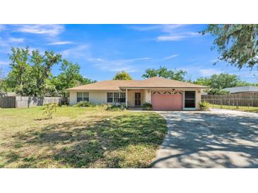
[[[102,58],[88,58],[88,61],[95,63],[95,67],[100,68],[100,70],[119,72],[122,70],[127,71],[127,73],[134,73],[139,70],[139,66],[136,66],[137,61],[146,61],[150,58],[131,58],[122,60],[105,60]]]

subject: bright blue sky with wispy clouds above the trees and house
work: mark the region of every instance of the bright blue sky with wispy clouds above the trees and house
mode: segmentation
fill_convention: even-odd
[[[187,71],[187,79],[216,73],[238,75],[258,82],[258,71],[238,70],[227,63],[213,65],[213,37],[198,32],[206,25],[0,25],[0,68],[6,73],[11,46],[53,50],[81,66],[81,74],[93,80],[110,80],[126,70],[135,80],[147,68],[165,66]],[[52,69],[59,73],[59,66]]]

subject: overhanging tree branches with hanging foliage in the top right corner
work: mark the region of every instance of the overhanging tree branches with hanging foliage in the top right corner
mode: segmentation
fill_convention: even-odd
[[[253,68],[258,64],[258,25],[226,24],[208,25],[202,34],[216,37],[212,49],[217,48],[218,58],[233,66]]]

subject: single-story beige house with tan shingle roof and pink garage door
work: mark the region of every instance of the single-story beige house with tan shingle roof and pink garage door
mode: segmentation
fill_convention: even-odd
[[[153,110],[196,110],[201,101],[201,90],[207,88],[189,82],[151,77],[146,80],[106,80],[67,90],[71,105],[90,101],[137,107],[146,102],[153,105]]]

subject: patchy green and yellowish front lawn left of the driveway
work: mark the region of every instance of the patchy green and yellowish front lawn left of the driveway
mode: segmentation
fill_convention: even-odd
[[[158,113],[0,109],[0,168],[148,168],[167,132]]]

